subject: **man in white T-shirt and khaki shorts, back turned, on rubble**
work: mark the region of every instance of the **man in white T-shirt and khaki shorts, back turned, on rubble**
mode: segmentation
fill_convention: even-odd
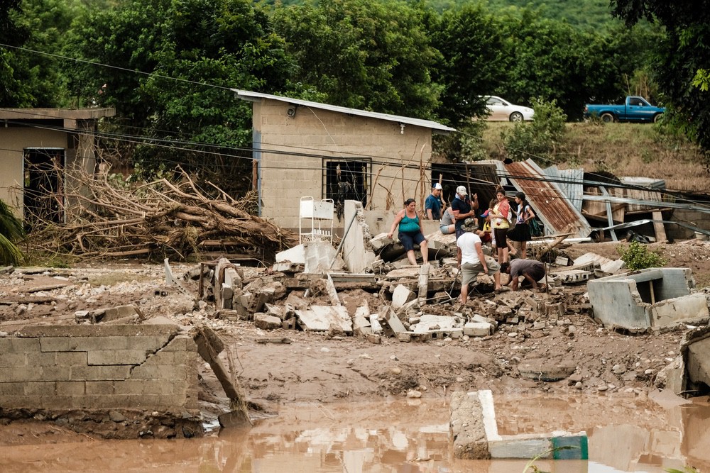
[[[459,301],[461,304],[466,304],[469,284],[476,280],[480,272],[493,276],[496,291],[501,290],[501,267],[492,258],[486,261],[481,248],[483,231],[478,229],[473,218],[466,218],[461,228],[464,230],[464,234],[456,240],[457,262],[459,271],[461,271],[461,298]]]

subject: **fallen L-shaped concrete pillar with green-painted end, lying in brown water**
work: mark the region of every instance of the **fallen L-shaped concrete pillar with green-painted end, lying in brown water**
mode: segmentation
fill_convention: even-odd
[[[449,429],[454,456],[466,460],[588,460],[586,433],[498,435],[491,391],[454,392]]]

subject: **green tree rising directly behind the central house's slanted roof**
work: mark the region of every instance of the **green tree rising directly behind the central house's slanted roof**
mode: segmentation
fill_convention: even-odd
[[[289,89],[330,104],[434,118],[437,51],[425,12],[398,0],[323,0],[275,6],[274,28],[296,66]]]

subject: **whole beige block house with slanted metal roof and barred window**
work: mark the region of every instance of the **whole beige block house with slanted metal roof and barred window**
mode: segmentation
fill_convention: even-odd
[[[232,89],[253,102],[253,158],[259,213],[299,227],[300,198],[345,200],[374,211],[398,211],[430,192],[432,133],[440,123]],[[423,193],[422,193],[423,189]],[[334,228],[343,228],[336,218]]]

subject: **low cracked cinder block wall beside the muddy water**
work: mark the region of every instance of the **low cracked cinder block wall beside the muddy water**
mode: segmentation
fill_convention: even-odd
[[[197,413],[197,348],[176,325],[26,327],[0,338],[2,408]]]

